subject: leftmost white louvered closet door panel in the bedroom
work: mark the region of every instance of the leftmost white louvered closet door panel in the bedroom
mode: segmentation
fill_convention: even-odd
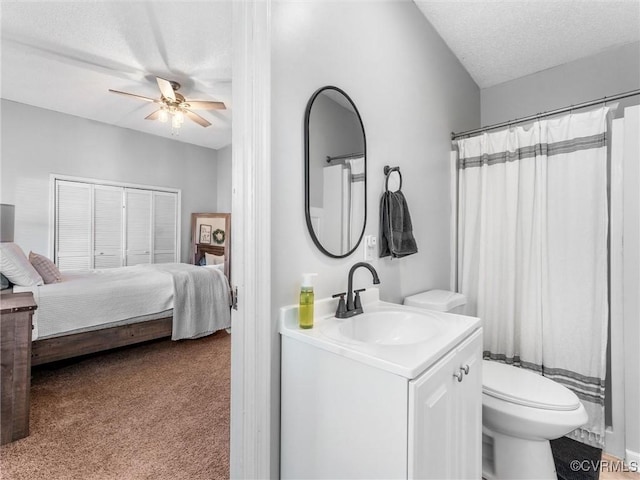
[[[90,184],[56,181],[55,263],[61,271],[91,268],[91,196]]]

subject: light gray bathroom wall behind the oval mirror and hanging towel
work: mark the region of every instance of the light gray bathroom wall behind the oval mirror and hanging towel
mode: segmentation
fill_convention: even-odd
[[[400,166],[419,253],[375,260],[384,300],[449,286],[451,131],[480,124],[480,92],[410,0],[286,2],[272,21],[272,378],[279,377],[278,308],[297,303],[302,272],[317,272],[316,298],[346,290],[345,259],[322,255],[304,214],[303,121],[318,88],[345,90],[367,138],[366,234],[379,235],[384,165]],[[390,182],[390,186],[393,182]],[[358,288],[371,286],[365,270]],[[279,386],[273,385],[272,465],[277,465]]]

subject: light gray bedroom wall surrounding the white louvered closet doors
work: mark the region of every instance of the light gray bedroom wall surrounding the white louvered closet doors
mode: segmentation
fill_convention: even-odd
[[[49,175],[182,190],[181,259],[188,261],[191,213],[215,212],[216,150],[2,100],[0,200],[16,205],[15,241],[50,255]]]

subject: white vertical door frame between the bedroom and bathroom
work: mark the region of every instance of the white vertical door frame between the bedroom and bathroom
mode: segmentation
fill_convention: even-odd
[[[231,478],[272,460],[271,0],[233,2]],[[277,452],[277,446],[274,446]]]

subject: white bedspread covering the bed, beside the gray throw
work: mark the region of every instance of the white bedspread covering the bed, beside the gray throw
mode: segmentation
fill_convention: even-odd
[[[173,274],[167,271],[166,266],[162,268],[159,269],[158,265],[136,265],[64,272],[60,283],[14,287],[14,291],[33,292],[38,304],[33,330],[33,339],[36,340],[79,329],[96,329],[104,324],[172,309]],[[211,281],[216,283],[216,288],[222,289],[228,297],[226,277],[218,271],[206,271],[212,275]],[[228,302],[224,306],[228,310]],[[219,323],[222,325],[220,328],[228,327],[230,317],[221,318]]]

